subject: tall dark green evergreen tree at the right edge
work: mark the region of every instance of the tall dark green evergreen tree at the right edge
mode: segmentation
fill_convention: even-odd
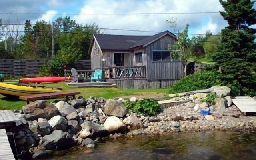
[[[228,26],[221,31],[221,43],[217,47],[213,59],[222,67],[227,80],[238,80],[243,89],[241,94],[256,89],[256,24],[255,1],[220,0],[223,6],[222,17]],[[251,93],[250,93],[251,94]]]

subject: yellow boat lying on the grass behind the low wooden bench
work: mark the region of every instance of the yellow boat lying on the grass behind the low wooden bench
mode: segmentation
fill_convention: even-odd
[[[61,90],[46,88],[44,86],[19,86],[0,83],[0,94],[6,97],[29,96],[34,94],[60,93]]]

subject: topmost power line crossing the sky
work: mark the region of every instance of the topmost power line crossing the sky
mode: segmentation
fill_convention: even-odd
[[[216,14],[219,12],[176,12],[176,13],[0,13],[0,15],[152,15],[152,14]]]

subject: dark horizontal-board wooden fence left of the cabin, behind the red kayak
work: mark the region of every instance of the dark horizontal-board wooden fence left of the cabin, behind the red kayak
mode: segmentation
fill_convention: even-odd
[[[43,59],[0,59],[0,73],[15,77],[35,77],[45,62]],[[90,70],[90,60],[79,60],[77,70]]]

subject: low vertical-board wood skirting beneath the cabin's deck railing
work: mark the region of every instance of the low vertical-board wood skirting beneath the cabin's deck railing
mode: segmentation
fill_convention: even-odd
[[[178,80],[114,79],[116,86],[122,89],[169,88],[177,81]]]

